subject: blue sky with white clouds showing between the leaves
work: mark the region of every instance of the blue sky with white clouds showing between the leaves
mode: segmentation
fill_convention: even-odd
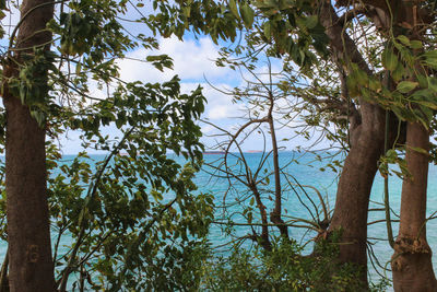
[[[145,10],[144,13],[146,14],[147,10],[151,10],[151,8],[150,5],[147,8],[147,1],[145,1],[145,3],[146,5],[142,9],[143,12]],[[135,10],[131,10],[127,15],[127,17],[131,19],[138,16]],[[11,9],[11,14],[2,20],[2,24],[14,24],[17,20],[17,11]],[[139,32],[147,34],[147,28],[144,25],[132,24],[130,22],[125,22],[123,25],[126,25],[126,30],[133,34]],[[177,37],[157,37],[157,40],[160,44],[158,51],[137,48],[127,54],[127,59],[118,60],[120,78],[125,81],[165,82],[177,74],[181,79],[181,90],[186,93],[201,85],[203,87],[203,94],[208,100],[205,112],[202,116],[202,119],[208,122],[199,121],[199,126],[204,136],[202,142],[206,145],[206,149],[215,149],[221,141],[227,140],[228,137],[217,136],[221,131],[213,125],[231,133],[235,133],[238,126],[247,121],[241,119],[247,113],[247,105],[245,103],[233,103],[232,96],[221,91],[229,91],[235,86],[243,86],[246,83],[245,80],[253,78],[245,73],[241,75],[240,72],[229,68],[215,66],[215,59],[218,57],[220,47],[213,44],[208,36],[194,37],[191,33],[187,33],[182,42]],[[7,39],[1,40],[0,44],[3,45],[5,44],[4,42],[7,42]],[[226,46],[232,44],[225,43],[221,45]],[[147,55],[160,54],[166,54],[173,58],[173,70],[166,69],[164,72],[161,72],[150,63],[133,60],[145,60]],[[268,71],[267,61],[261,60],[260,68],[257,70],[260,73],[265,73]],[[280,60],[273,60],[272,70],[281,70]],[[93,91],[95,91],[95,94],[99,94],[97,89],[93,89]],[[110,126],[104,129],[104,131],[107,133],[117,132],[115,126]],[[69,131],[68,135],[60,140],[64,154],[73,154],[82,150],[79,135],[79,132]],[[281,140],[288,139],[294,135],[293,130],[288,128],[279,128],[277,136]],[[303,138],[294,138],[282,142],[281,145],[286,150],[292,150],[299,145],[308,145],[309,143]],[[323,147],[324,144],[321,145],[321,148]],[[245,151],[262,150],[263,148],[263,135],[259,132],[253,132],[248,139],[245,139],[243,144]],[[268,150],[271,149],[269,143],[265,148]],[[93,153],[92,150],[90,152]]]

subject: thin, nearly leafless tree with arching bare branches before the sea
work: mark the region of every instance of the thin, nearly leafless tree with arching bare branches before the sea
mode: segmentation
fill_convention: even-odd
[[[260,52],[259,56],[263,54]],[[295,155],[281,154],[281,145],[285,141],[281,141],[276,135],[279,129],[305,131],[310,128],[305,121],[299,121],[304,115],[302,112],[305,102],[294,94],[294,85],[299,79],[298,72],[272,72],[270,57],[265,59],[267,72],[253,69],[258,58],[250,62],[231,61],[229,65],[238,68],[243,77],[245,73],[249,75],[244,77],[246,86],[235,87],[233,91],[217,89],[235,103],[245,105],[246,114],[241,116],[241,126],[229,132],[210,121],[203,122],[216,127],[220,136],[227,138],[215,145],[225,154],[213,163],[205,163],[204,166],[205,170],[211,168],[211,176],[217,176],[217,179],[228,183],[227,190],[221,199],[223,205],[218,206],[227,215],[215,223],[231,230],[239,226],[236,234],[231,233],[231,237],[237,241],[237,246],[244,240],[251,240],[270,252],[276,237],[283,242],[297,240],[290,235],[293,227],[306,226],[309,231],[323,233],[328,226],[329,211],[323,197],[315,187],[300,185],[293,174],[288,173],[290,167],[296,165],[297,159]],[[286,106],[281,106],[284,104]],[[245,140],[253,137],[259,140],[258,145],[262,145],[262,154],[259,157],[243,151]],[[291,209],[290,203],[288,207],[284,207],[284,203],[288,202],[287,199],[294,195],[298,198],[299,206],[308,211],[308,219],[296,214],[295,211],[299,208]],[[238,236],[244,227],[247,233]]]

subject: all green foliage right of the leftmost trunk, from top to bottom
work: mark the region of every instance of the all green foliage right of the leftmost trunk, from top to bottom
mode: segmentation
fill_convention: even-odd
[[[128,5],[62,2],[47,26],[51,50],[45,44],[16,56],[11,36],[4,62],[20,72],[4,86],[50,138],[49,211],[61,291],[182,289],[199,278],[189,259],[204,257],[213,205],[192,178],[202,159],[196,120],[205,98],[201,87],[181,93],[177,77],[162,84],[119,79],[117,59],[139,45],[157,47],[153,37],[125,31],[119,16]],[[168,56],[145,59],[161,70],[172,67]],[[93,96],[92,83],[107,89],[106,96]],[[113,132],[104,135],[109,126]],[[66,161],[55,142],[71,130],[81,133],[85,151]],[[90,149],[106,156],[93,161]]]

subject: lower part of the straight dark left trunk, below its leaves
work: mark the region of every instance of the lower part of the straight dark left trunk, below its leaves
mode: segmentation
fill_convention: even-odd
[[[45,131],[27,106],[4,96],[11,291],[54,291],[46,195]]]

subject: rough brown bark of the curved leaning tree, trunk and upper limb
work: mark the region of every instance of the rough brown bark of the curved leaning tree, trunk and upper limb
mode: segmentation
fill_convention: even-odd
[[[339,60],[354,62],[371,74],[356,44],[344,32],[330,1],[320,9],[320,22],[326,27],[331,48]],[[367,283],[367,214],[368,203],[383,153],[385,112],[364,98],[358,98],[359,115],[351,117],[351,150],[345,160],[336,191],[335,209],[330,232],[341,231],[340,262],[361,267],[361,280]]]

